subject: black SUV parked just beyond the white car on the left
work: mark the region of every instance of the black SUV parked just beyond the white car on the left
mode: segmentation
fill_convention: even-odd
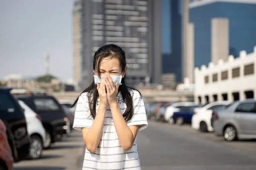
[[[45,148],[49,148],[51,143],[56,141],[57,136],[66,134],[67,128],[69,128],[67,127],[67,117],[63,108],[53,96],[23,94],[16,97],[41,116],[46,130],[47,142],[44,145]]]

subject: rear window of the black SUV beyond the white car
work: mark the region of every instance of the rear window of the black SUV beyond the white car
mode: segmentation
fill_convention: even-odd
[[[60,107],[51,98],[34,99],[35,108],[37,111],[59,111]]]

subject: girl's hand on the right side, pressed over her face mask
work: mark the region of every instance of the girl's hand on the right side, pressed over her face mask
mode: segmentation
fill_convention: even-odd
[[[108,97],[108,104],[112,105],[113,103],[116,103],[116,96],[118,94],[118,82],[114,85],[114,82],[112,78],[106,74],[105,77],[105,85],[107,89],[107,97]]]

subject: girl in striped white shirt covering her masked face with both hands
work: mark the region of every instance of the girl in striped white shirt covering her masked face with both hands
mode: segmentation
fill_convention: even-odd
[[[83,170],[141,170],[136,136],[148,122],[140,92],[125,84],[126,71],[119,46],[104,45],[94,54],[94,81],[73,104],[73,128],[86,145]]]

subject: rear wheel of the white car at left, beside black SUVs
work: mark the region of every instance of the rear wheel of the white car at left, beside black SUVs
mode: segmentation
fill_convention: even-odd
[[[29,148],[29,159],[38,159],[43,153],[43,141],[39,136],[31,136],[31,144]]]

